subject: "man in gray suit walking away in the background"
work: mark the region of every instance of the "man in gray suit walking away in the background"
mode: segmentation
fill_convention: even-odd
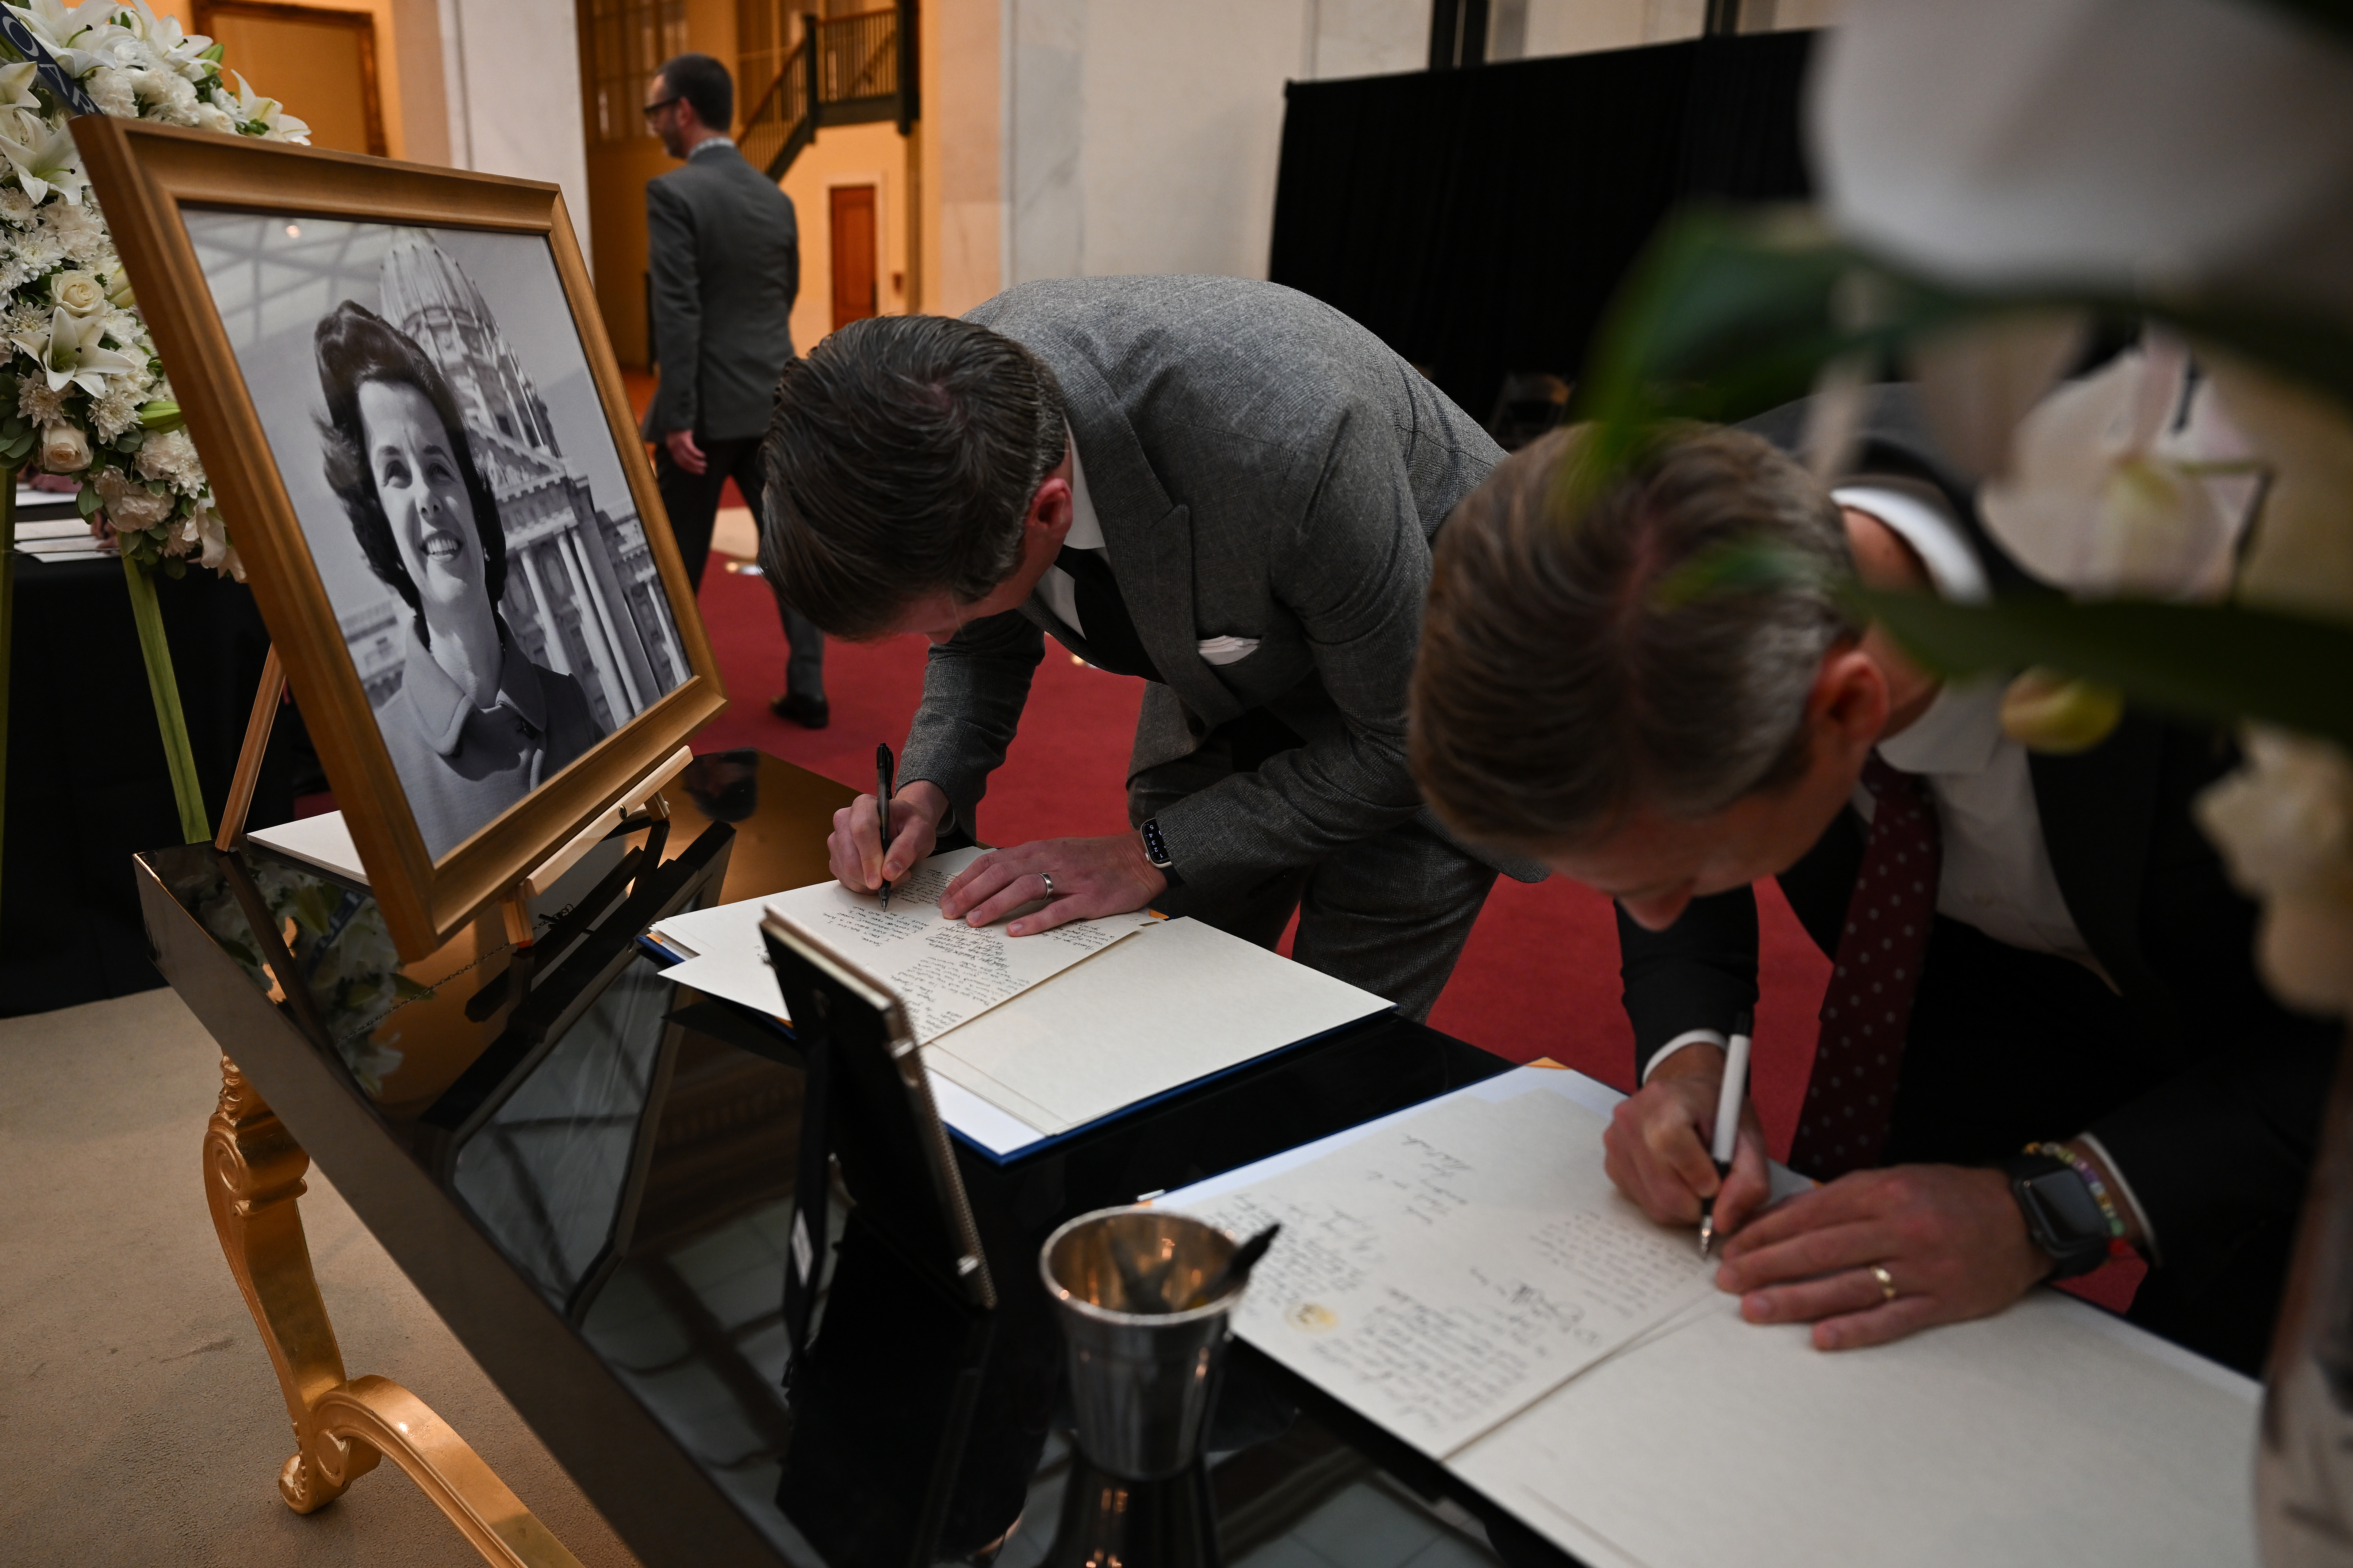
[[[760,430],[776,374],[793,357],[800,233],[793,197],[744,162],[727,127],[734,80],[708,54],[680,54],[645,92],[647,127],[682,169],[645,186],[661,388],[645,411],[654,477],[687,576],[704,583],[720,491],[732,477],[760,515]],[[786,691],[769,708],[826,726],[826,637],[791,609]]]

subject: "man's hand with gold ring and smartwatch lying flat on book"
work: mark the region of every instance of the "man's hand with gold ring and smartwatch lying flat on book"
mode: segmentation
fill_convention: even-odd
[[[1814,1349],[1857,1349],[2000,1312],[2049,1267],[2000,1171],[1889,1166],[1758,1215],[1725,1244],[1715,1286],[1751,1324],[1814,1324]]]

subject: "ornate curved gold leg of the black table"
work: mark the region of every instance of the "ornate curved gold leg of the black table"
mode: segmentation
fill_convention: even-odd
[[[308,1168],[311,1157],[224,1056],[221,1107],[205,1128],[205,1201],[294,1420],[294,1458],[278,1472],[287,1507],[327,1507],[391,1455],[485,1561],[579,1568],[421,1399],[386,1378],[344,1375],[296,1208]]]

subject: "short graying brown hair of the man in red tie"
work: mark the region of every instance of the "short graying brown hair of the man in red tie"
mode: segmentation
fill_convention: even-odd
[[[1833,590],[1854,571],[1838,503],[1781,451],[1682,425],[1577,501],[1591,444],[1558,430],[1454,510],[1414,668],[1424,795],[1457,832],[1520,851],[1795,783],[1821,658],[1861,630]],[[1748,545],[1784,569],[1682,571]]]

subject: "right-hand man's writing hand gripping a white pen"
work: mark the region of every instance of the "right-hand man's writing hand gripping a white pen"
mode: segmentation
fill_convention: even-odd
[[[1602,1168],[1609,1180],[1661,1225],[1699,1225],[1699,1199],[1713,1197],[1715,1234],[1729,1237],[1772,1194],[1765,1128],[1746,1103],[1741,1135],[1732,1145],[1732,1175],[1715,1175],[1708,1145],[1715,1140],[1715,1095],[1722,1081],[1720,1048],[1685,1046],[1659,1063],[1649,1084],[1619,1100],[1602,1133]]]

